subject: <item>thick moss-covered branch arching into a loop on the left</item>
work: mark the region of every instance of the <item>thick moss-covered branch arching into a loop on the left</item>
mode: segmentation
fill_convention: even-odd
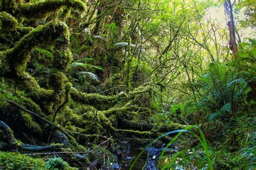
[[[53,85],[55,87],[55,94],[60,93],[63,89],[62,84],[65,79],[65,75],[62,71],[65,71],[71,60],[71,53],[68,50],[69,30],[68,26],[63,22],[52,21],[44,26],[34,29],[18,41],[14,48],[8,50],[6,56],[12,74],[18,76],[19,79],[22,80],[22,85],[29,94],[31,94],[34,100],[42,101],[44,99],[43,101],[52,101],[53,99],[56,100],[56,98],[53,98],[53,91],[40,88],[36,80],[25,72],[26,63],[30,60],[30,52],[33,47],[42,44],[43,42],[48,44],[53,43],[58,46],[57,48],[59,51],[55,52],[56,65],[53,65],[53,68],[56,68],[53,76],[55,76],[55,80],[58,81]],[[64,52],[60,50],[64,50]]]

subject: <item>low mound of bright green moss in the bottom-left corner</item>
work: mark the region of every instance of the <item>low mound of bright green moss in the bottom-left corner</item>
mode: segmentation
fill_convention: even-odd
[[[0,152],[0,167],[3,169],[44,169],[45,163],[42,159],[19,153]]]

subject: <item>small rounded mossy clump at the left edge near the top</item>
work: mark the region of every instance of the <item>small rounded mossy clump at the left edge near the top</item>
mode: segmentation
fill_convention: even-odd
[[[6,33],[15,30],[18,25],[17,20],[7,12],[0,12],[0,32]]]

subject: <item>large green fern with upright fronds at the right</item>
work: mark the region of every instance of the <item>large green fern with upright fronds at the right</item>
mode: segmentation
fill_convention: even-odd
[[[250,75],[223,63],[213,62],[208,65],[207,73],[201,77],[204,97],[198,105],[214,112],[208,117],[210,121],[217,117],[231,116],[246,103],[244,93],[248,89],[247,80]]]

